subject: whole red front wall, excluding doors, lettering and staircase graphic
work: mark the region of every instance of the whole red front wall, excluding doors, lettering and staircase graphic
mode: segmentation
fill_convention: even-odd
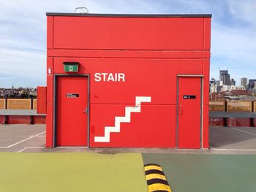
[[[53,74],[79,62],[89,74],[90,147],[176,147],[177,75],[203,75],[203,147],[208,147],[208,78],[211,18],[48,16],[47,133],[53,147]],[[121,73],[124,81],[97,81]],[[125,116],[136,96],[150,96],[110,142],[95,142],[105,126]]]

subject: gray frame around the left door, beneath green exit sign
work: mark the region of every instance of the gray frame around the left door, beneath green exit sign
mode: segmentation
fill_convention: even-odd
[[[90,147],[90,74],[53,74],[53,147],[57,147],[57,79],[58,77],[87,77],[87,147]]]

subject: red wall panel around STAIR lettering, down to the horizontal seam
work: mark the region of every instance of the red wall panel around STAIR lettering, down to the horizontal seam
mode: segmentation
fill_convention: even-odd
[[[151,104],[176,104],[176,75],[203,72],[199,59],[54,58],[55,74],[64,74],[64,61],[78,61],[78,74],[91,74],[91,104],[134,104],[135,96],[151,96]],[[97,82],[98,72],[124,73],[125,82]]]

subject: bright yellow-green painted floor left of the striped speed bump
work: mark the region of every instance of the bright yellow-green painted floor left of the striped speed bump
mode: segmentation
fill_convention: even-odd
[[[0,153],[0,191],[147,191],[140,153]]]

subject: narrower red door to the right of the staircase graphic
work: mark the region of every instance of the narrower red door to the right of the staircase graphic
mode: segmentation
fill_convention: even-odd
[[[201,78],[178,77],[178,148],[199,149]]]

